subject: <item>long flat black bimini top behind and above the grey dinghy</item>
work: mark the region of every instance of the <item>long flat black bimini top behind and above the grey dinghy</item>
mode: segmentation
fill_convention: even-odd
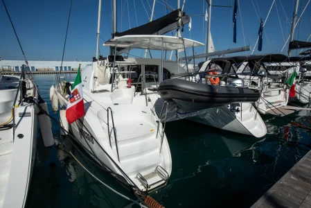
[[[228,60],[231,63],[260,61],[260,62],[286,62],[287,56],[283,54],[265,54],[265,55],[240,55],[234,57],[213,58],[212,61]]]

